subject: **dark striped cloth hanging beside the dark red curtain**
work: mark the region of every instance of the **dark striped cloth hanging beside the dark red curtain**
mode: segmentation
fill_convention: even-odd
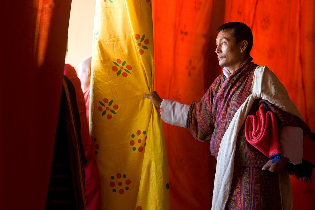
[[[85,163],[76,93],[71,81],[64,76],[45,209],[87,209],[82,166]]]

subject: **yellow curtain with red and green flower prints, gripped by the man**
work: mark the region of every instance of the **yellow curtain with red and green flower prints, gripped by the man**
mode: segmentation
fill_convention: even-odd
[[[169,209],[162,121],[153,92],[150,0],[97,0],[90,131],[102,180],[102,209]]]

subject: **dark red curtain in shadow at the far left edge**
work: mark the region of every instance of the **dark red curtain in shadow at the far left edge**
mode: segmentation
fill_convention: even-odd
[[[70,6],[71,0],[1,3],[1,209],[45,207]]]

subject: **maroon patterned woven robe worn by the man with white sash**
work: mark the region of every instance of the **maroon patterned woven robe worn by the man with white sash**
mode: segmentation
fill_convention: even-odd
[[[251,94],[254,71],[257,65],[248,56],[240,68],[228,78],[223,74],[215,79],[200,102],[192,102],[187,128],[199,141],[210,141],[211,154],[217,158],[221,139],[234,114]],[[292,114],[276,108],[268,101],[257,99],[249,112],[255,114],[261,102],[266,102],[282,126],[308,126]],[[238,133],[234,172],[226,209],[281,209],[278,173],[262,171],[269,158],[250,145],[245,139],[243,124]]]

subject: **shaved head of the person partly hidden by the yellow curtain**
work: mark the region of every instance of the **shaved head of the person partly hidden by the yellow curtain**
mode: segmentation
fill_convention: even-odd
[[[92,56],[88,56],[79,64],[78,74],[83,91],[91,84],[91,62]]]

